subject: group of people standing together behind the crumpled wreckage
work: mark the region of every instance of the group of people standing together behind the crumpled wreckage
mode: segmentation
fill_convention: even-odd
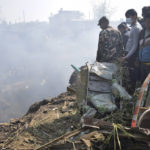
[[[118,29],[109,26],[107,17],[100,18],[98,25],[102,29],[99,34],[98,62],[120,62],[129,70],[133,87],[137,80],[141,83],[150,73],[150,6],[142,8],[142,17],[136,10],[129,9],[125,13],[126,22],[118,25]]]

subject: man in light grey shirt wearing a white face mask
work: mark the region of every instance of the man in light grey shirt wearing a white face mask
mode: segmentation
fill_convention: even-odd
[[[120,59],[120,62],[127,60],[127,67],[129,70],[131,88],[134,90],[136,81],[139,74],[139,69],[136,65],[137,50],[139,43],[139,36],[142,30],[141,25],[138,23],[137,12],[134,9],[129,9],[126,14],[126,22],[131,25],[129,39],[125,48],[126,56]]]

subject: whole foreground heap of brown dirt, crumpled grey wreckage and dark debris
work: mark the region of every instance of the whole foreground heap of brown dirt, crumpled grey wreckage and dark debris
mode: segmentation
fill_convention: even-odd
[[[141,126],[130,128],[139,90],[131,97],[118,74],[118,66],[110,63],[78,69],[68,92],[35,103],[22,118],[0,124],[0,148],[150,149],[150,130],[144,126],[149,124],[141,120]]]

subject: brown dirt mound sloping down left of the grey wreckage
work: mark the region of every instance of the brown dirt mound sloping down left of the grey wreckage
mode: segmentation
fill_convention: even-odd
[[[0,148],[35,149],[78,128],[76,96],[66,92],[33,104],[27,114],[0,124]]]

